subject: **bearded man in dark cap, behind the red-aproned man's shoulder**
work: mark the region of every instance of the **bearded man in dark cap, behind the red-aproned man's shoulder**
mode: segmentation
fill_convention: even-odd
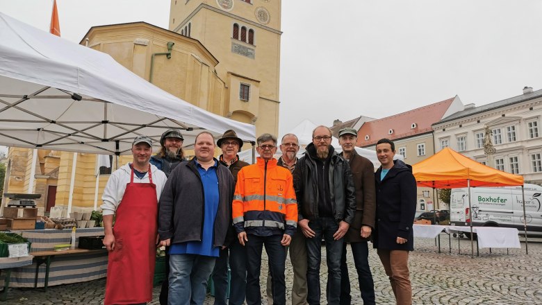
[[[166,177],[175,166],[184,161],[183,134],[175,128],[166,130],[160,137],[160,151],[151,157],[151,164],[163,171]]]

